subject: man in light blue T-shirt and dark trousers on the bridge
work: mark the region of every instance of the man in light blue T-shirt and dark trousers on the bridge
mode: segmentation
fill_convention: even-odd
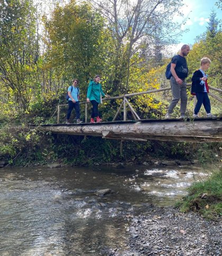
[[[73,79],[72,86],[69,86],[68,88],[67,99],[68,99],[69,107],[67,112],[66,124],[70,124],[69,118],[73,108],[75,108],[75,111],[76,111],[77,124],[82,123],[82,121],[80,120],[79,88],[77,87],[78,84],[79,84],[78,79]]]

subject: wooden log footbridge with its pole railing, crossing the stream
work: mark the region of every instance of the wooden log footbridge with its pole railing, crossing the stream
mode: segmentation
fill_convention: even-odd
[[[210,89],[222,93],[222,90],[211,87]],[[141,120],[136,114],[132,105],[128,102],[127,97],[149,94],[170,90],[162,88],[150,90],[147,92],[126,94],[123,96],[110,97],[104,100],[123,98],[112,122],[102,122],[90,124],[87,123],[87,103],[85,104],[85,123],[81,124],[60,124],[60,108],[67,105],[59,105],[57,112],[57,124],[42,125],[44,131],[50,131],[57,134],[71,135],[90,135],[100,136],[104,139],[115,140],[160,140],[160,141],[188,141],[188,142],[222,142],[222,116],[216,118],[172,118],[172,119],[148,119]],[[217,95],[210,93],[210,96],[222,103],[222,99]],[[196,103],[194,103],[196,104]],[[134,120],[127,121],[126,106],[132,113]],[[116,121],[116,117],[124,108],[124,120]]]

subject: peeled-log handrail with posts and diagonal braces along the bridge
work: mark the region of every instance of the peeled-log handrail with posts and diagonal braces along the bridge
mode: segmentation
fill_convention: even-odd
[[[190,87],[191,85],[188,84],[187,85],[188,87]],[[211,87],[209,86],[209,88],[211,90],[215,90],[216,92],[219,92],[219,93],[222,93],[222,90],[221,89],[218,89],[218,88],[214,88],[214,87]],[[126,121],[126,115],[127,115],[127,111],[126,111],[126,105],[129,106],[129,109],[132,113],[132,116],[134,118],[134,120],[140,120],[140,117],[137,115],[137,113],[135,112],[135,109],[132,107],[132,105],[128,102],[128,99],[127,97],[133,97],[133,96],[137,96],[137,95],[144,95],[144,94],[151,94],[151,93],[158,93],[158,92],[164,92],[164,91],[167,91],[167,90],[170,90],[171,88],[170,87],[166,87],[166,88],[161,88],[161,89],[153,89],[153,90],[147,90],[146,92],[140,92],[140,93],[132,93],[132,94],[125,94],[125,95],[121,95],[121,96],[116,96],[116,97],[109,97],[109,98],[104,98],[103,101],[105,100],[112,100],[112,99],[122,99],[123,98],[123,102],[121,103],[121,105],[119,106],[114,118],[112,121],[115,121],[116,120],[116,117],[117,115],[119,114],[119,112],[121,111],[121,108],[123,106],[123,120]],[[217,95],[215,94],[212,94],[212,93],[209,93],[209,95],[212,97],[212,98],[215,98],[217,99],[220,103],[222,103],[222,98],[218,97]],[[88,112],[87,112],[87,105],[89,104],[89,102],[80,102],[79,104],[85,104],[85,123],[87,123],[87,120],[88,120]],[[196,97],[195,97],[195,100],[194,100],[194,106],[196,105]],[[57,110],[54,112],[54,114],[56,114],[57,112],[57,124],[60,123],[60,109],[61,107],[63,106],[67,106],[68,104],[62,104],[62,105],[58,105],[58,108]],[[52,116],[54,116],[54,114]]]

